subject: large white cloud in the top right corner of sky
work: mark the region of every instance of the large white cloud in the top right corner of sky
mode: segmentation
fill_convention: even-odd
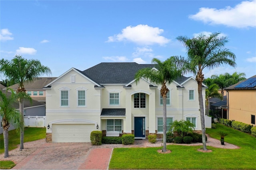
[[[237,28],[256,27],[256,0],[243,1],[234,8],[200,8],[199,12],[190,15],[193,20],[200,20],[204,23],[222,24]]]

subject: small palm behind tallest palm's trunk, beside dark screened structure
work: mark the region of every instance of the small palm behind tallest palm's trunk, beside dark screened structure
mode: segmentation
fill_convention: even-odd
[[[209,110],[210,110],[210,105],[209,101],[211,97],[217,97],[220,100],[223,99],[222,94],[218,92],[218,85],[217,84],[212,84],[208,87],[208,89],[205,90],[205,98],[206,98],[206,115],[209,116]]]

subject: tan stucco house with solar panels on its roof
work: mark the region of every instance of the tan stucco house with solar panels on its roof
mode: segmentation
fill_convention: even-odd
[[[225,89],[228,119],[255,126],[256,75]]]

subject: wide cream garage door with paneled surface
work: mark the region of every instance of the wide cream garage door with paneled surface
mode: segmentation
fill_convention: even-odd
[[[90,142],[94,124],[52,125],[52,142]]]

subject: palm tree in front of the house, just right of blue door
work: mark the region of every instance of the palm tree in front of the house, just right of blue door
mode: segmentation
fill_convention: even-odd
[[[162,86],[160,93],[163,97],[163,152],[166,152],[166,94],[169,91],[166,84],[168,85],[178,77],[181,77],[181,70],[177,69],[174,57],[170,57],[163,62],[153,58],[152,63],[156,64],[157,70],[150,67],[140,69],[135,74],[135,81],[137,83],[140,78],[145,78]]]

